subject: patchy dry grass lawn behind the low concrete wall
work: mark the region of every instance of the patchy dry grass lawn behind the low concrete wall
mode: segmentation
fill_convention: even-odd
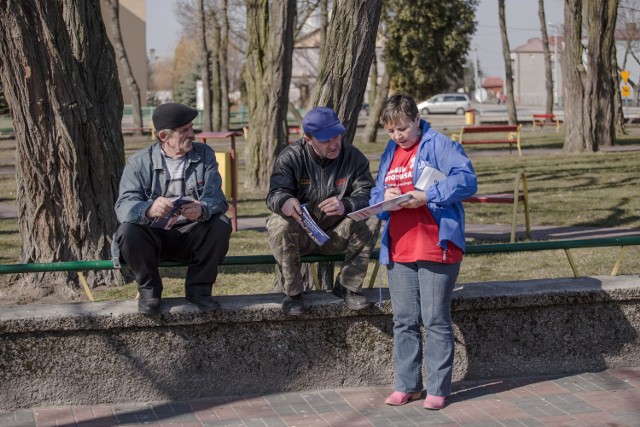
[[[467,146],[465,150],[478,175],[479,193],[512,192],[516,172],[520,169],[525,171],[533,224],[640,229],[640,176],[637,173],[637,165],[640,164],[640,128],[632,128],[630,133],[629,136],[620,137],[618,145],[637,146],[638,150],[565,154],[558,150],[562,148],[562,132],[532,132],[530,129],[522,132],[524,155],[521,158],[515,150],[514,154],[509,155],[506,146]],[[127,153],[131,153],[149,141],[148,137],[126,137],[125,143]],[[356,141],[356,146],[371,159],[374,175],[385,143],[383,133],[379,134],[376,144]],[[228,143],[216,143],[214,148],[218,151],[228,150]],[[237,147],[240,158],[243,148],[244,141],[240,137]],[[14,161],[13,141],[0,141],[0,168],[11,166]],[[245,188],[244,162],[240,161],[238,166],[239,215],[266,217],[269,211],[264,203],[265,194]],[[15,204],[15,179],[11,174],[0,175],[0,203]],[[511,223],[509,205],[472,204],[466,206],[466,213],[467,223],[470,224]],[[20,244],[17,220],[0,220],[0,262],[17,262]],[[619,248],[615,247],[579,249],[573,250],[572,254],[581,274],[607,275],[611,273],[618,251]],[[270,250],[263,232],[239,231],[232,235],[229,255],[268,253]],[[640,272],[639,255],[640,248],[627,248],[620,273]],[[370,272],[372,269],[369,269]],[[184,274],[184,269],[163,271],[163,295],[183,295]],[[462,263],[458,282],[570,276],[572,271],[564,251],[541,251],[467,256]],[[381,277],[382,285],[386,286],[384,271]],[[366,280],[365,283],[368,283],[369,278]],[[265,293],[270,292],[272,283],[272,266],[222,267],[214,293]],[[134,284],[124,287],[99,286],[94,293],[99,300],[132,298],[135,294]],[[79,299],[84,298],[84,295],[79,295]]]

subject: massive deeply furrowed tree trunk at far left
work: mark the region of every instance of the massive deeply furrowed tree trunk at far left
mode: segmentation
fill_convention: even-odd
[[[17,142],[20,262],[109,259],[124,166],[122,92],[98,0],[0,7],[0,75]],[[114,284],[114,271],[87,275]],[[78,290],[75,273],[39,273],[40,295]]]

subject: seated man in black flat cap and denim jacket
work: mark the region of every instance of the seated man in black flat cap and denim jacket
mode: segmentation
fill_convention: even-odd
[[[229,249],[231,222],[224,215],[229,205],[215,153],[193,142],[191,122],[197,115],[182,104],[157,107],[152,117],[157,141],[133,154],[122,173],[112,252],[114,262],[122,259],[135,275],[140,313],[160,312],[162,259],[189,262],[187,301],[203,311],[219,307],[211,291]],[[177,199],[187,203],[174,211],[172,225],[163,225]]]

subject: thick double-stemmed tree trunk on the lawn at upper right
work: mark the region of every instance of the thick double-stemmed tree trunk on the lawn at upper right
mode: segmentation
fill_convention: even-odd
[[[581,0],[565,0],[565,82],[564,151],[595,152],[599,144],[615,141],[614,82],[611,51],[616,20],[616,0],[587,2],[584,16],[588,46],[587,64],[582,61]]]

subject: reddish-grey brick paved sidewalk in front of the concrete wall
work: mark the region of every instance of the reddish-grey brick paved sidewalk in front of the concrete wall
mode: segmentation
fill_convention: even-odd
[[[55,406],[0,412],[28,426],[640,426],[640,368],[454,384],[441,411],[384,405],[391,387]]]

